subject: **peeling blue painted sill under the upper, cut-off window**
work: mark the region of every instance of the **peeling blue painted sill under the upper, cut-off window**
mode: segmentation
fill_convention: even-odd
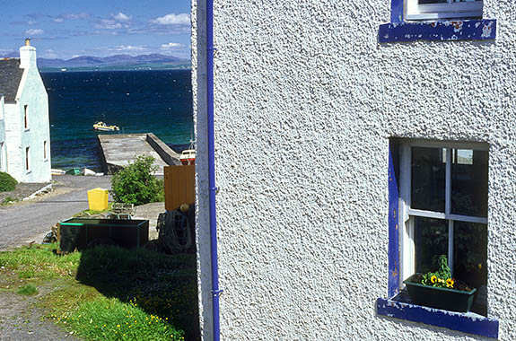
[[[393,2],[397,0],[392,0]],[[391,13],[391,20],[394,13]],[[398,15],[398,14],[396,14]],[[495,19],[442,22],[390,22],[380,25],[380,43],[415,40],[486,40],[496,38]]]

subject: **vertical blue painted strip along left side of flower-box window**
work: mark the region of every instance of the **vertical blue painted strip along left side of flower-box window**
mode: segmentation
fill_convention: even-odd
[[[389,297],[399,293],[399,192],[398,177],[393,160],[393,145],[389,147]]]

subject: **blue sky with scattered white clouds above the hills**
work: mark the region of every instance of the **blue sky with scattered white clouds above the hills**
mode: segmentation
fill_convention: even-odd
[[[38,57],[190,57],[189,0],[24,0],[1,5],[0,56],[25,38]]]

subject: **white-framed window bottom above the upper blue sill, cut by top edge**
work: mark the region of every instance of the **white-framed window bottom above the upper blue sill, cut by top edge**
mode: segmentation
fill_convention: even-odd
[[[405,18],[407,20],[439,20],[450,18],[482,17],[483,1],[467,1],[446,4],[419,4],[418,0],[405,0]]]

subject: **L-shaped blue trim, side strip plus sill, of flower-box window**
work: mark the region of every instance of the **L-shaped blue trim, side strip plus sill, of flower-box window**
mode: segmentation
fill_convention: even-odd
[[[474,313],[438,310],[392,300],[399,293],[400,286],[398,166],[398,140],[391,139],[389,141],[389,299],[379,298],[376,301],[376,313],[389,318],[406,319],[483,337],[498,338],[499,322],[496,319],[485,318]]]

